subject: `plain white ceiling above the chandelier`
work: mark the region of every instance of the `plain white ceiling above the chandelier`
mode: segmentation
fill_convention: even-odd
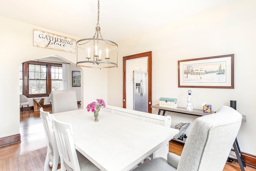
[[[104,39],[119,41],[232,1],[101,0],[99,24]],[[0,16],[91,38],[97,24],[97,3],[97,0],[5,0],[0,5]]]

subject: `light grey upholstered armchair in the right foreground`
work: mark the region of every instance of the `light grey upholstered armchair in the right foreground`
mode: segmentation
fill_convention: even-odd
[[[181,156],[168,153],[143,163],[134,171],[222,171],[236,139],[242,115],[222,106],[215,114],[197,118]]]

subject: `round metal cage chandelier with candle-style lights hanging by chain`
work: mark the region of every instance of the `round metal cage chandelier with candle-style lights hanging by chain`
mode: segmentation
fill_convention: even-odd
[[[100,0],[98,0],[98,23],[94,36],[76,42],[76,66],[100,69],[118,67],[118,46],[115,42],[102,38],[99,20]]]

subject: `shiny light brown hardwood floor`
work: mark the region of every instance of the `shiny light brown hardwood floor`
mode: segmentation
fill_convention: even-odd
[[[20,112],[21,143],[0,148],[0,171],[43,171],[47,142],[39,116],[40,112]],[[170,142],[170,152],[180,155],[182,149],[182,144]],[[226,164],[223,171],[240,171],[240,167],[238,163]],[[246,166],[245,171],[256,169]]]

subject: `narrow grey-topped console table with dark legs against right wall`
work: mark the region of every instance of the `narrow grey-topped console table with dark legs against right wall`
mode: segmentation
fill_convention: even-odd
[[[193,109],[192,111],[188,111],[188,110],[186,110],[186,108],[181,108],[181,107],[166,108],[166,107],[159,106],[159,104],[152,105],[151,108],[157,108],[158,109],[158,115],[160,115],[161,112],[163,111],[163,116],[165,115],[166,111],[176,112],[176,113],[180,113],[180,114],[188,114],[188,115],[193,115],[193,116],[205,116],[205,115],[215,113],[214,111],[212,111],[211,113],[205,113],[203,110],[198,110],[198,109]],[[245,115],[242,115],[242,122],[246,122],[246,116]],[[245,165],[245,162],[244,162],[244,157],[242,156],[240,147],[238,145],[237,139],[235,140],[235,142],[233,144],[233,147],[234,147],[234,151],[236,153],[236,157],[237,157],[240,169],[241,169],[241,171],[244,171],[244,167],[246,167],[246,165]]]

